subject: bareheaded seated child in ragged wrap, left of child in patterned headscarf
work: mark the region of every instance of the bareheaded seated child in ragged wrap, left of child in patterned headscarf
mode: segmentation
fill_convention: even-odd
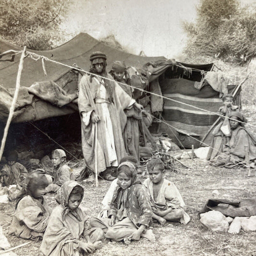
[[[48,181],[36,170],[29,174],[27,182],[23,195],[17,201],[9,234],[38,241],[43,237],[51,213],[43,197]]]

